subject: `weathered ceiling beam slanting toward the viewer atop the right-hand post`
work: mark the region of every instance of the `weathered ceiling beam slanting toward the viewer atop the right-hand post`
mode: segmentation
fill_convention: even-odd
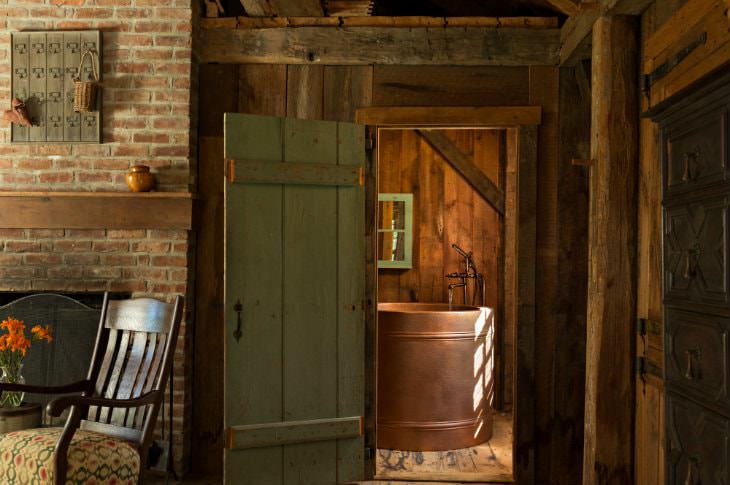
[[[566,20],[560,32],[560,65],[571,66],[582,58],[586,39],[598,17],[641,15],[654,0],[600,0],[581,3],[580,11]],[[590,40],[588,40],[590,42]]]

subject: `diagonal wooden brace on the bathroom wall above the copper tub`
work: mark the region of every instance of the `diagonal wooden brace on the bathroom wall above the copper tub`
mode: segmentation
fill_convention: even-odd
[[[464,154],[449,138],[438,131],[416,130],[449,165],[479,192],[500,216],[504,216],[504,191],[494,185],[479,167]]]

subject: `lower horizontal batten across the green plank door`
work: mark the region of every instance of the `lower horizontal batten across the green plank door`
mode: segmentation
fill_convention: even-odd
[[[226,448],[241,450],[362,436],[362,416],[232,426]]]

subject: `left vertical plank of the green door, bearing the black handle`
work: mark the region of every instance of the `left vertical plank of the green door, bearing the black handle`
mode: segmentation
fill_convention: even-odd
[[[225,126],[227,158],[282,159],[279,118],[226,114]],[[283,417],[282,194],[282,187],[276,185],[226,184],[226,428]],[[235,262],[231,255],[235,255]],[[243,337],[236,342],[233,332],[238,322],[232,306],[239,298]],[[280,446],[226,450],[224,460],[226,483],[284,482]]]

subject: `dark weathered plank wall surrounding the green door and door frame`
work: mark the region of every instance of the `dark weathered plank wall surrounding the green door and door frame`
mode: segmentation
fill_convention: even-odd
[[[585,169],[575,171],[568,155],[559,150],[559,89],[559,71],[554,67],[201,66],[200,135],[206,140],[201,143],[199,177],[209,182],[200,187],[208,198],[208,215],[201,221],[199,232],[209,233],[209,237],[205,244],[199,244],[198,261],[199,265],[212,267],[207,273],[199,273],[198,281],[195,375],[197,383],[206,384],[196,385],[194,396],[195,471],[221,470],[222,416],[217,403],[222,402],[222,380],[217,380],[222,379],[222,360],[211,356],[222,355],[222,320],[218,318],[222,260],[211,258],[211,254],[222,254],[222,239],[211,234],[217,234],[217,221],[222,224],[222,202],[218,205],[211,198],[219,197],[223,187],[222,160],[220,151],[216,151],[222,144],[222,113],[235,109],[352,121],[355,109],[365,106],[534,103],[543,106],[545,117],[538,147],[535,478],[537,482],[558,485],[579,481],[582,464],[573,450],[581,446],[583,392],[577,371],[571,367],[573,370],[566,372],[564,368],[584,362],[580,345],[584,309],[579,303],[566,304],[566,299],[580,288],[568,290],[566,285],[579,287],[575,282],[587,279],[585,267],[576,263],[585,251],[583,221],[587,215],[581,205],[585,202],[581,183],[586,179]],[[563,109],[573,108],[572,101],[566,104]],[[576,179],[559,179],[566,171]],[[560,190],[563,192],[559,195]],[[566,392],[568,389],[570,392]],[[571,452],[556,460],[566,446]]]

